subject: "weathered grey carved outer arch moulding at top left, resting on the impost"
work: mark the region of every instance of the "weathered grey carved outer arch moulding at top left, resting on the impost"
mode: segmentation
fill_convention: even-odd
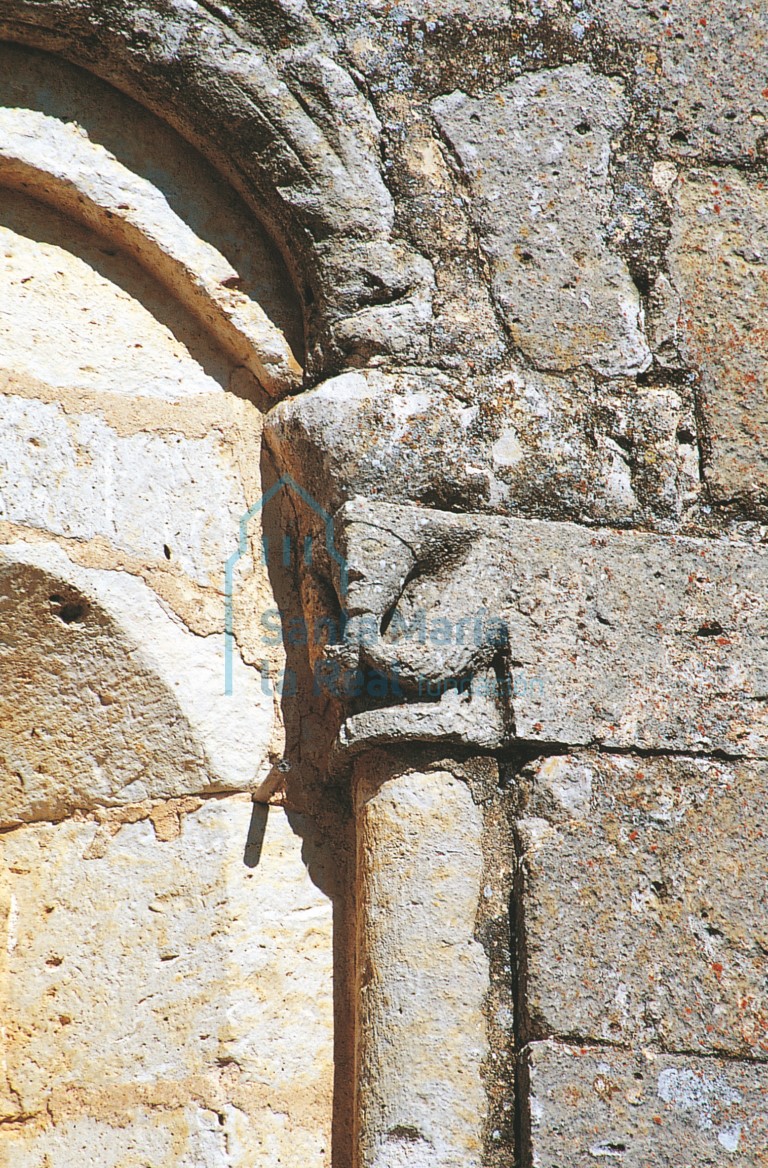
[[[0,4],[0,35],[49,49],[197,146],[264,218],[292,269],[312,378],[417,355],[431,265],[396,237],[378,121],[303,5]],[[247,41],[244,35],[247,34]]]

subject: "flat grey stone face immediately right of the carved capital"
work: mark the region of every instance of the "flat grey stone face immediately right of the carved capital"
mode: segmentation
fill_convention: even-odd
[[[554,524],[518,540],[519,737],[767,756],[762,549]]]

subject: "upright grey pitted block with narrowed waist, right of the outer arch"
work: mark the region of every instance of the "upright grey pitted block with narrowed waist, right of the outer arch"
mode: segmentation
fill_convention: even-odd
[[[637,288],[605,238],[622,86],[567,65],[433,110],[468,175],[494,293],[525,355],[608,376],[647,368]]]

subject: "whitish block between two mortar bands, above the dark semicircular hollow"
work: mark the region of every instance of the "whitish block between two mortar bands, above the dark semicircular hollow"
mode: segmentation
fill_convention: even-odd
[[[0,519],[71,540],[103,538],[144,562],[221,586],[247,510],[232,433],[120,433],[99,413],[0,396]]]

